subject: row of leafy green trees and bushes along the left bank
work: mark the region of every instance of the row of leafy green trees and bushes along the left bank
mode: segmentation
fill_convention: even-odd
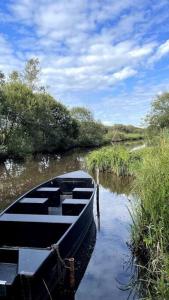
[[[71,110],[39,85],[38,59],[23,72],[0,72],[0,157],[104,144],[104,126],[83,107]]]

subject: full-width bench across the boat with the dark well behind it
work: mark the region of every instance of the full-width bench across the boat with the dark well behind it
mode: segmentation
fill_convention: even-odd
[[[76,216],[7,214],[0,216],[0,247],[46,249],[65,234]]]

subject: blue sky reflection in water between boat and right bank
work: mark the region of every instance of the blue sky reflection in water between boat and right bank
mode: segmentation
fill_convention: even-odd
[[[132,276],[127,268],[130,250],[130,215],[127,197],[100,188],[100,222],[94,252],[76,292],[76,300],[127,300],[129,291],[122,290]],[[94,212],[96,216],[96,210]]]

